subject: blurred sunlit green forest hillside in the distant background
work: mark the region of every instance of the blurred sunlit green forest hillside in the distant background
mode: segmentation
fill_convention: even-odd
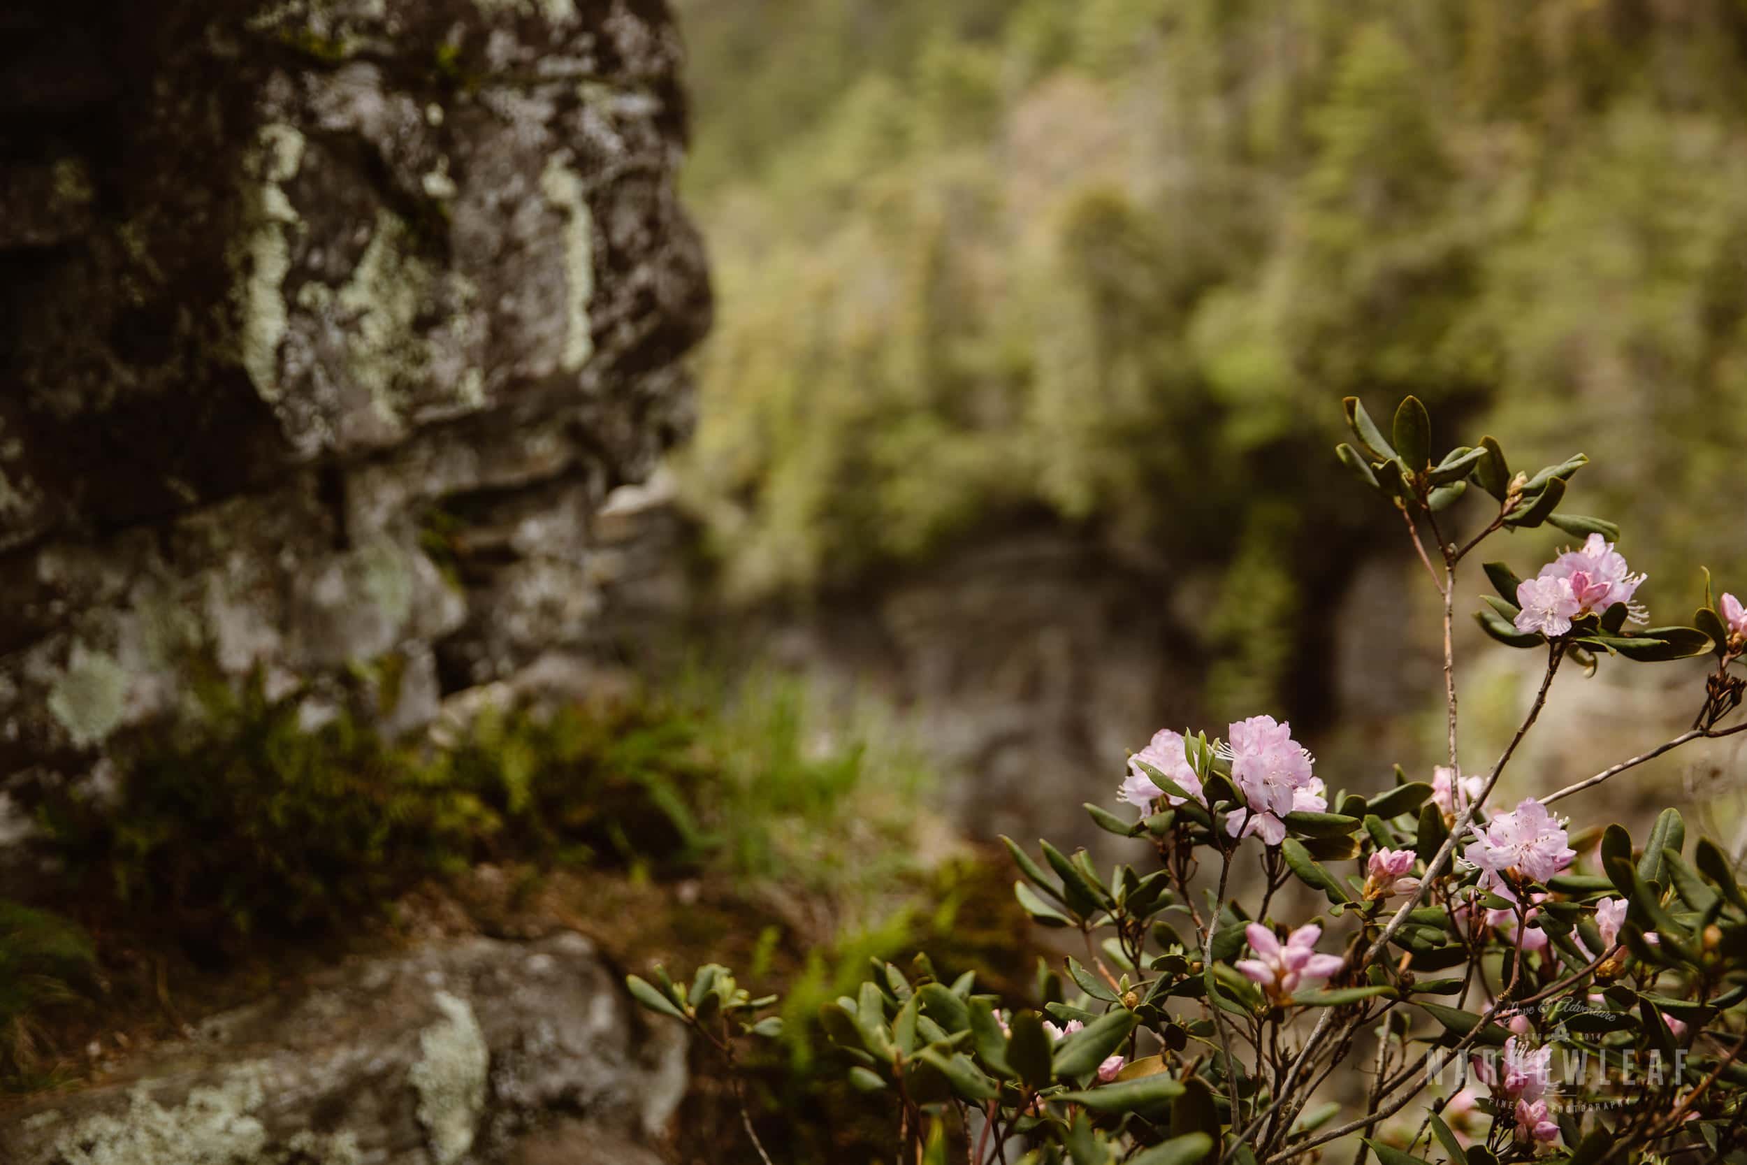
[[[1328,402],[1408,391],[1523,463],[1588,451],[1585,508],[1653,575],[1747,568],[1719,534],[1740,5],[680,10],[722,299],[681,480],[732,594],[1041,512],[1223,571],[1219,653],[1314,610],[1363,538]],[[1295,648],[1267,653],[1219,683],[1267,688]]]

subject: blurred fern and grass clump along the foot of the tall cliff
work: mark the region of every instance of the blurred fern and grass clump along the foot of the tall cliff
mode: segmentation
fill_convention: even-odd
[[[791,681],[486,709],[440,744],[314,714],[320,700],[269,697],[260,676],[197,692],[114,751],[107,788],[56,786],[38,805],[82,910],[150,919],[194,954],[349,924],[475,861],[783,875],[844,896],[910,861],[921,767],[821,734]]]

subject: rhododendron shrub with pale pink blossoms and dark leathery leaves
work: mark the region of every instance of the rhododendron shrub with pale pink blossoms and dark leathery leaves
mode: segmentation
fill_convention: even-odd
[[[1737,859],[1689,845],[1674,809],[1635,840],[1565,816],[1635,765],[1747,728],[1747,610],[1707,576],[1691,624],[1654,624],[1674,597],[1628,566],[1619,531],[1560,508],[1583,456],[1522,473],[1487,437],[1434,461],[1412,396],[1389,437],[1357,400],[1347,421],[1340,459],[1443,601],[1447,763],[1429,781],[1319,772],[1268,714],[1160,730],[1116,809],[1087,805],[1144,861],[1104,875],[1085,851],[1008,842],[1020,905],[1076,952],[1036,997],[917,955],[823,1008],[900,1162],[1747,1163]],[[1543,526],[1574,543],[1529,578],[1466,569],[1494,534]],[[1480,625],[1543,664],[1495,758],[1464,753],[1455,702],[1455,611],[1481,576]],[[1562,789],[1513,774],[1534,795],[1504,802],[1555,678],[1633,664],[1691,669],[1691,728]],[[776,1031],[772,1001],[722,968],[631,989],[730,1057]]]

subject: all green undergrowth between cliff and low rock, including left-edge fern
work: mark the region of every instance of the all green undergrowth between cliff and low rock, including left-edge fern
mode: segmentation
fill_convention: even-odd
[[[0,903],[10,1090],[56,1083],[38,1044],[82,1046],[79,1020],[42,1039],[59,1004],[161,1010],[176,1029],[187,1017],[169,1001],[204,994],[189,983],[252,975],[227,987],[269,989],[262,968],[281,954],[386,934],[405,894],[480,866],[528,887],[604,877],[655,903],[683,884],[798,903],[818,920],[805,948],[863,931],[900,941],[954,900],[910,905],[935,896],[915,844],[922,765],[877,716],[825,716],[786,678],[486,707],[416,741],[370,730],[344,697],[269,695],[260,678],[192,692],[183,716],[115,744],[105,779],[38,789],[52,873],[30,908]],[[599,927],[610,945],[613,926]],[[93,992],[94,968],[122,989]]]

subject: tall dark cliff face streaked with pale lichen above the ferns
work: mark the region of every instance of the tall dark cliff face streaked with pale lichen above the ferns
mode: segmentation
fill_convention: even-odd
[[[0,16],[0,776],[391,658],[391,728],[603,636],[709,320],[662,0]],[[12,788],[19,779],[10,781]]]

